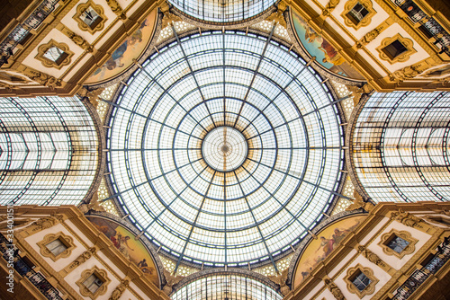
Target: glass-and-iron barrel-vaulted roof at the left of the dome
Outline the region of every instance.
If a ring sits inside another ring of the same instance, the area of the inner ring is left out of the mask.
[[[74,98],[0,98],[0,204],[78,204],[94,181],[98,138]]]

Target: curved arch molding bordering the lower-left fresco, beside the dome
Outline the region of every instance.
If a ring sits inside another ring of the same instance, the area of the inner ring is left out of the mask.
[[[137,241],[139,241],[140,243],[142,243],[144,245],[144,247],[148,251],[148,254],[150,255],[151,259],[155,263],[155,267],[157,269],[157,278],[159,279],[159,288],[163,287],[166,284],[166,278],[164,277],[164,272],[163,272],[163,269],[164,269],[163,263],[159,259],[159,256],[157,255],[157,251],[155,250],[154,246],[150,243],[150,241],[148,241],[148,238],[144,234],[140,234],[140,231],[138,228],[134,227],[126,220],[121,219],[118,216],[114,216],[108,212],[98,212],[98,211],[90,210],[89,212],[87,212],[85,214],[85,216],[96,217],[96,218],[110,221],[117,225],[121,225],[122,227],[124,227],[125,229],[130,231],[131,234],[135,234],[135,238],[139,237],[139,239]]]

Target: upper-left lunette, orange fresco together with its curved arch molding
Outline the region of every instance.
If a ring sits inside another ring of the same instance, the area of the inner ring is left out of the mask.
[[[138,67],[134,61],[140,62],[146,58],[155,46],[160,31],[160,23],[156,8],[140,23],[139,28],[112,52],[111,57],[103,66],[100,66],[87,78],[85,85],[109,86],[128,77]]]

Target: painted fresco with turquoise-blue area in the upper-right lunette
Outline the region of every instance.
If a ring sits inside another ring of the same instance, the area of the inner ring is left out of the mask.
[[[338,51],[325,40],[320,33],[314,31],[302,17],[293,12],[293,27],[297,33],[302,46],[311,57],[316,57],[316,61],[329,71],[348,78],[365,80],[353,66],[347,63],[346,59],[338,54]]]

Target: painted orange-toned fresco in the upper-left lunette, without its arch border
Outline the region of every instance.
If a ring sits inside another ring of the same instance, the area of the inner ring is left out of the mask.
[[[147,49],[154,31],[156,19],[157,13],[154,10],[148,14],[147,19],[140,24],[139,28],[118,49],[112,52],[111,57],[104,65],[96,69],[94,74],[87,78],[85,84],[101,83],[126,70],[133,63],[133,58],[138,58]]]

